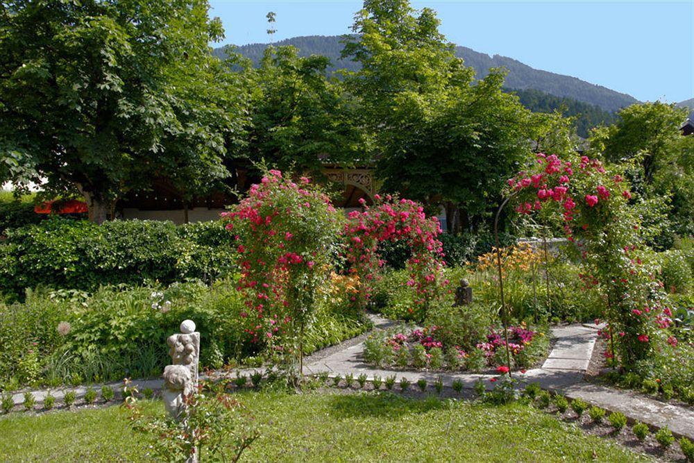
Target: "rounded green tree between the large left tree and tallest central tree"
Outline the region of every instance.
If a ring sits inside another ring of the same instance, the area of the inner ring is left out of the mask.
[[[357,101],[325,77],[330,60],[299,57],[294,47],[268,47],[259,69],[249,69],[251,127],[244,150],[254,162],[278,169],[318,171],[323,162],[349,165],[362,151]]]

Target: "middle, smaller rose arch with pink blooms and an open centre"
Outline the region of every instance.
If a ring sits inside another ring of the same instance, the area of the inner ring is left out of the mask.
[[[357,273],[361,290],[354,302],[364,308],[373,292],[373,282],[384,262],[378,255],[382,242],[404,241],[412,251],[407,260],[414,303],[408,308],[410,318],[423,320],[427,309],[443,294],[443,251],[437,235],[441,226],[436,217],[427,217],[423,207],[408,199],[376,195],[369,207],[362,201],[362,210],[348,215],[344,226],[346,258],[350,271]]]

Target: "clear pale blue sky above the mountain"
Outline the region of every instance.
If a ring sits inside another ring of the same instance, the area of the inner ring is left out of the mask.
[[[359,0],[210,0],[223,44],[348,33]],[[448,40],[568,74],[643,101],[694,97],[694,0],[412,1],[439,13]]]

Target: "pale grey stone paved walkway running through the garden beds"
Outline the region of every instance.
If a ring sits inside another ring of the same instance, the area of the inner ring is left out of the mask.
[[[371,316],[374,326],[377,329],[391,328],[397,322]],[[599,328],[599,327],[598,327]],[[555,345],[550,352],[547,360],[542,367],[530,369],[525,374],[514,373],[514,377],[521,380],[521,384],[528,382],[538,382],[543,389],[565,394],[568,398],[581,398],[582,400],[597,405],[612,412],[623,412],[630,420],[643,421],[655,428],[668,426],[672,433],[679,436],[686,436],[694,440],[694,409],[692,407],[679,407],[669,403],[657,401],[654,398],[635,394],[633,392],[619,389],[611,389],[600,385],[593,385],[584,381],[583,377],[588,369],[588,365],[593,355],[593,347],[598,337],[598,331],[591,325],[570,325],[552,328],[552,339]],[[305,374],[317,374],[328,372],[330,376],[344,376],[352,373],[355,378],[360,374],[366,374],[369,380],[374,376],[386,378],[395,374],[400,378],[407,378],[413,384],[420,379],[428,382],[441,379],[443,385],[451,387],[452,382],[459,380],[463,387],[472,389],[475,382],[482,378],[487,389],[493,387],[489,379],[497,375],[475,374],[475,373],[451,373],[451,372],[429,372],[429,371],[394,371],[377,369],[366,364],[362,358],[364,343],[345,342],[346,348],[336,348],[333,346],[330,351],[319,352],[306,357],[304,363]],[[325,353],[328,352],[328,355]],[[244,369],[241,373],[252,373],[254,369]],[[133,380],[140,392],[146,388],[158,390],[162,388],[163,382],[160,379]],[[115,390],[116,396],[121,394],[122,382],[112,382],[109,387]],[[93,385],[97,392],[100,392],[101,385]],[[83,398],[87,387],[74,387],[62,389],[46,389],[33,391],[37,403],[43,403],[44,398],[50,392],[58,401],[62,401],[65,391],[72,390],[76,393],[76,398]],[[24,401],[24,394],[17,393],[12,396],[16,405]]]

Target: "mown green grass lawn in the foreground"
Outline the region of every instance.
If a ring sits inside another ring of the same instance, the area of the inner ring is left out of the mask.
[[[382,394],[246,392],[262,425],[246,461],[648,461],[522,405],[411,400]],[[160,401],[145,402],[162,413]],[[3,461],[143,461],[121,407],[0,419]],[[595,457],[593,457],[595,452]]]

